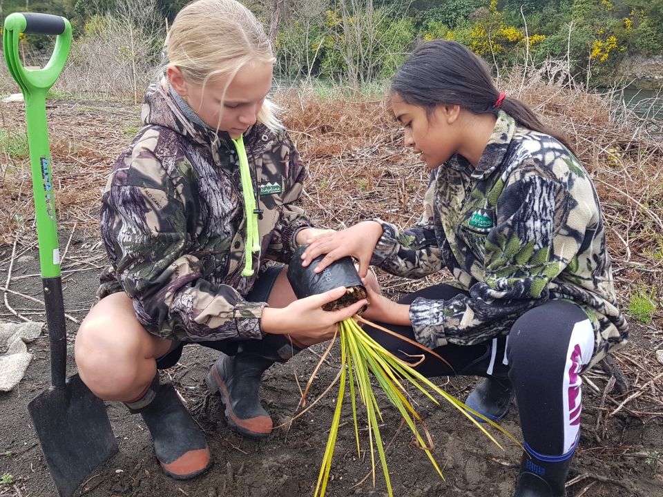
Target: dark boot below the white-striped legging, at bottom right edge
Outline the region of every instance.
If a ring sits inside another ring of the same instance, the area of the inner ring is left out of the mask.
[[[514,497],[566,497],[566,477],[572,459],[573,452],[555,461],[524,453]]]

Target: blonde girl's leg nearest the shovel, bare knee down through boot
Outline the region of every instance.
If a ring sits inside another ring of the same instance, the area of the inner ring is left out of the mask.
[[[127,407],[140,412],[164,472],[188,480],[209,468],[211,455],[173,385],[151,388],[156,359],[168,352],[171,344],[142,327],[130,298],[122,292],[113,293],[95,305],[81,323],[75,344],[76,364],[81,379],[97,397],[133,402]]]

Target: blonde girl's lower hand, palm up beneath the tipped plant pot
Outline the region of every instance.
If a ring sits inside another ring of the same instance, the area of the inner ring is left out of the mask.
[[[265,307],[262,309],[262,331],[275,335],[293,335],[304,345],[329,340],[336,333],[336,323],[356,314],[368,303],[360,300],[345,309],[323,311],[323,305],[334,302],[344,294],[345,286],[339,286],[319,295],[295,300],[282,309]]]

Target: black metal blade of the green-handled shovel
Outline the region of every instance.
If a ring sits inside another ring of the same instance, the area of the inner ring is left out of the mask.
[[[104,402],[78,375],[39,394],[28,411],[61,497],[73,496],[90,471],[117,453]]]

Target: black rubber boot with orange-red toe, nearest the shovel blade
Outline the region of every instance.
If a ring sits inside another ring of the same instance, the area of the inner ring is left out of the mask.
[[[154,451],[164,473],[176,480],[189,480],[212,463],[207,442],[171,384],[159,384],[155,376],[143,395],[125,402],[140,413],[154,440]]]

